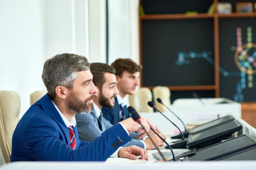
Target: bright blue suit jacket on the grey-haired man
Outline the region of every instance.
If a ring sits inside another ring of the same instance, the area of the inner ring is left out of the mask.
[[[79,140],[69,147],[70,132],[48,94],[37,101],[19,121],[12,139],[14,161],[105,161],[131,138],[119,123],[93,142]]]

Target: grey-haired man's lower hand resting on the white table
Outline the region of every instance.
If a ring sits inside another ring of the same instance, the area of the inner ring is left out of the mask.
[[[122,158],[136,160],[138,156],[141,156],[139,159],[149,160],[148,152],[145,149],[134,145],[130,147],[122,147],[118,152],[118,157]]]

